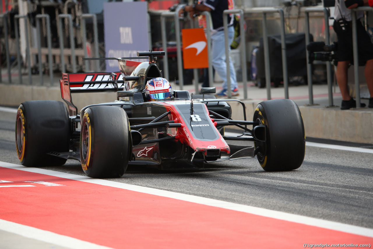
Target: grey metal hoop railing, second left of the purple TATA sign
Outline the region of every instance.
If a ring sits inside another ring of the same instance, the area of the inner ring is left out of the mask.
[[[61,49],[61,71],[66,73],[65,69],[65,58],[64,58],[64,44],[63,44],[63,29],[62,29],[62,18],[68,18],[69,20],[69,33],[70,33],[70,47],[71,47],[71,62],[72,62],[72,71],[76,73],[76,58],[75,58],[75,41],[74,41],[74,31],[72,27],[72,17],[70,14],[60,14],[58,16],[59,21],[59,36],[60,36],[60,49]]]

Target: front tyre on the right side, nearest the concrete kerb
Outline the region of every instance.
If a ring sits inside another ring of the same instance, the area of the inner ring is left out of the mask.
[[[266,126],[266,141],[254,142],[257,159],[266,171],[294,170],[305,153],[305,134],[300,110],[290,99],[258,104],[253,121]]]

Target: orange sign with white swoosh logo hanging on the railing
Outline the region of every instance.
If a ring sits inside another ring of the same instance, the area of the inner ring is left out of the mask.
[[[183,43],[184,68],[207,68],[207,40],[203,28],[188,28],[181,30]]]

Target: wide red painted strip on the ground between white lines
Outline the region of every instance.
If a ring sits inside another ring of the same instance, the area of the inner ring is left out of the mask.
[[[112,248],[301,248],[372,238],[40,173],[0,167],[0,219]]]

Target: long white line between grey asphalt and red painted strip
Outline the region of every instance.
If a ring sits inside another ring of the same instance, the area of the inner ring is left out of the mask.
[[[108,181],[108,180],[103,180],[103,179],[88,178],[86,176],[73,175],[70,173],[57,172],[53,170],[24,167],[22,165],[15,165],[15,164],[5,163],[5,162],[0,162],[0,167],[24,170],[27,172],[41,173],[45,175],[57,176],[61,178],[72,179],[72,180],[82,181],[82,182],[90,182],[90,183],[109,186],[109,187],[122,188],[125,190],[137,191],[137,192],[146,193],[146,194],[153,194],[156,196],[169,197],[169,198],[173,198],[177,200],[184,200],[186,202],[193,202],[193,203],[198,203],[202,205],[220,207],[220,208],[235,210],[239,212],[251,213],[254,215],[260,215],[260,216],[280,219],[284,221],[296,222],[300,224],[311,225],[314,227],[327,228],[327,229],[341,231],[345,233],[373,237],[373,229],[371,228],[358,227],[355,225],[348,225],[348,224],[343,224],[343,223],[334,222],[334,221],[326,221],[326,220],[311,218],[311,217],[302,216],[302,215],[295,215],[291,213],[264,209],[260,207],[253,207],[253,206],[246,206],[242,204],[224,202],[221,200],[214,200],[214,199],[209,199],[205,197],[192,196],[189,194],[174,193],[174,192],[170,192],[166,190],[159,190],[155,188],[142,187],[142,186],[137,186],[137,185],[132,185],[132,184],[125,184],[122,182],[113,182],[113,181]],[[6,230],[1,225],[0,225],[0,229]]]

